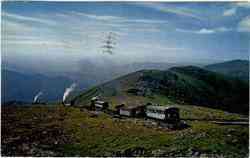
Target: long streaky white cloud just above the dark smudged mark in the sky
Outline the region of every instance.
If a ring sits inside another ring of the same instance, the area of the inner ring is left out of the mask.
[[[113,32],[119,31],[117,34],[121,36],[129,35],[128,32],[130,31],[160,32],[161,30],[157,24],[168,23],[166,20],[141,18],[130,19],[121,16],[95,15],[76,11],[57,13],[56,16],[58,18],[63,18],[63,21],[70,19],[71,23],[77,23],[78,25],[70,26],[74,29],[75,33],[83,31],[89,32],[88,34],[91,34],[90,32],[93,32],[93,30],[100,30],[100,32],[107,32],[110,30],[113,30]],[[69,23],[66,23],[65,25],[69,25]],[[88,30],[83,29],[83,26],[88,27]]]

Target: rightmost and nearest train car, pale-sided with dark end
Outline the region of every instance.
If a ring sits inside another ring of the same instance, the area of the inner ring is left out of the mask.
[[[179,109],[168,106],[147,106],[146,116],[168,123],[176,123],[180,120]]]

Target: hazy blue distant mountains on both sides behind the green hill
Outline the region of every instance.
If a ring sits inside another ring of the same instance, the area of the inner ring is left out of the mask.
[[[247,81],[249,77],[247,64],[249,66],[248,61],[235,60],[208,65],[204,68]],[[181,65],[185,64],[138,62],[119,65],[109,61],[102,61],[97,64],[94,61],[85,60],[79,64],[77,71],[58,74],[42,75],[34,72],[26,73],[26,71],[22,71],[20,73],[17,70],[2,69],[2,101],[32,101],[39,91],[43,91],[44,94],[41,97],[44,101],[61,100],[65,88],[73,82],[78,85],[78,89],[74,93],[74,95],[77,95],[83,90],[132,72],[150,69],[164,71]]]

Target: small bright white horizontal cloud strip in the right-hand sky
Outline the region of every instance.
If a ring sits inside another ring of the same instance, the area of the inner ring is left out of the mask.
[[[214,33],[219,33],[219,32],[228,32],[231,31],[232,29],[226,28],[226,27],[218,27],[218,28],[201,28],[199,30],[185,30],[185,29],[179,29],[177,28],[177,32],[184,32],[184,33],[194,33],[194,34],[214,34]]]

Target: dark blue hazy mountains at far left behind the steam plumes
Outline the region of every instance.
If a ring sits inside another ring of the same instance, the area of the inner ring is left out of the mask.
[[[72,80],[65,77],[47,77],[40,74],[23,74],[2,70],[2,103],[7,101],[33,101],[34,96],[43,92],[41,100],[61,100],[66,87]]]

